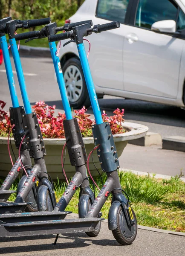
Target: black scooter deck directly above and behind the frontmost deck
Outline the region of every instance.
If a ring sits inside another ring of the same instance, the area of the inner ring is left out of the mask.
[[[68,211],[63,212],[22,212],[22,213],[4,213],[0,214],[0,221],[6,223],[30,222],[30,221],[51,221],[64,219]]]

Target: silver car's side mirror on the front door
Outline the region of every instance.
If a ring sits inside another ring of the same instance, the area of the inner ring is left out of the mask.
[[[154,32],[175,33],[176,22],[175,20],[159,20],[152,24],[151,30]]]

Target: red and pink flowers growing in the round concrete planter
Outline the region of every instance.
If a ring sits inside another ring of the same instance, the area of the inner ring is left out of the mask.
[[[3,111],[5,102],[0,101],[0,136],[6,136],[11,127],[10,119],[8,113]],[[45,138],[65,138],[64,125],[63,121],[66,119],[65,113],[58,112],[58,116],[54,117],[55,105],[48,106],[45,102],[40,101],[36,102],[33,106],[33,109],[38,117],[38,122],[40,125],[40,130]],[[87,109],[83,107],[80,110],[74,110],[74,117],[78,120],[78,125],[81,130],[83,137],[91,137],[92,134],[92,125],[95,124],[95,121],[92,121],[89,117],[90,114],[87,114]],[[102,119],[103,122],[109,122],[110,128],[113,134],[120,134],[125,132],[122,127],[124,122],[124,109],[120,110],[117,108],[114,112],[115,115],[107,116],[106,112],[103,111]]]

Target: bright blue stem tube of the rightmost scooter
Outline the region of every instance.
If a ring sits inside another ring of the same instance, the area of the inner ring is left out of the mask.
[[[90,96],[90,102],[91,102],[91,105],[93,108],[93,113],[95,115],[95,121],[96,121],[96,124],[99,125],[99,124],[103,123],[103,119],[101,116],[98,98],[97,98],[97,95],[95,92],[93,78],[92,78],[92,75],[90,72],[89,62],[87,60],[84,44],[78,44],[77,49],[78,49],[78,53],[80,56],[82,70],[84,72],[87,90],[88,90],[89,96]]]

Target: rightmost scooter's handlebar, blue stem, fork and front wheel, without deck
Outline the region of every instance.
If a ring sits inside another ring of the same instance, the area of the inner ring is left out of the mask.
[[[53,23],[47,26],[52,26]],[[47,27],[46,26],[46,27]],[[107,174],[107,180],[103,188],[99,192],[92,207],[89,209],[85,218],[95,217],[103,207],[108,196],[112,193],[112,204],[108,216],[109,229],[112,230],[115,239],[123,245],[132,244],[137,234],[137,220],[133,209],[129,205],[129,198],[125,198],[122,192],[121,184],[118,176],[119,160],[116,151],[116,145],[108,122],[103,122],[101,111],[99,108],[93,79],[90,73],[85,47],[83,43],[84,36],[94,33],[100,33],[110,29],[120,27],[119,22],[111,22],[103,25],[95,25],[91,28],[91,24],[83,24],[73,27],[72,32],[53,35],[50,34],[49,42],[71,39],[77,45],[81,66],[83,69],[87,89],[90,96],[93,113],[95,115],[96,124],[92,126],[93,137],[101,169]],[[124,192],[126,194],[126,192]],[[127,194],[126,194],[127,195]],[[56,238],[57,240],[57,238]],[[56,242],[56,241],[55,241]]]

